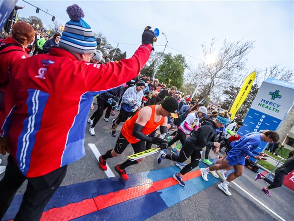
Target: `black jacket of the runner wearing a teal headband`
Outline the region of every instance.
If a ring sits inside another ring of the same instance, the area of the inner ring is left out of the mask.
[[[193,132],[186,142],[189,143],[193,149],[201,151],[203,147],[213,147],[213,142],[216,140],[217,125],[212,120],[204,120],[195,132]]]

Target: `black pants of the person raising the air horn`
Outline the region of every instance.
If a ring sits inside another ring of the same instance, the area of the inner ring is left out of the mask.
[[[45,206],[60,186],[66,171],[67,166],[62,166],[45,175],[27,178],[9,155],[5,175],[0,181],[0,220],[10,206],[16,191],[26,179],[28,183],[23,201],[14,220],[40,220]]]

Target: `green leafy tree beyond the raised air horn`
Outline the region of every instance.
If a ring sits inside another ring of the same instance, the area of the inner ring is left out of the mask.
[[[186,67],[187,63],[183,55],[165,54],[155,77],[159,82],[167,84],[168,87],[181,88],[184,83],[183,75]]]

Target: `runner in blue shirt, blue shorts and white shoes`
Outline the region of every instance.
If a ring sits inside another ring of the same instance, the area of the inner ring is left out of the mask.
[[[232,149],[227,152],[227,156],[225,155],[221,158],[217,164],[207,168],[200,168],[201,176],[205,181],[208,181],[207,174],[209,172],[219,169],[230,170],[234,168],[234,172],[230,173],[226,180],[218,185],[219,189],[223,193],[232,195],[228,190],[228,184],[239,176],[242,176],[245,165],[245,157],[248,155],[252,158],[263,161],[266,154],[256,152],[255,149],[259,146],[261,141],[277,142],[278,140],[279,135],[274,131],[267,131],[264,134],[256,132],[249,133],[247,136],[243,136],[239,140],[232,142]]]

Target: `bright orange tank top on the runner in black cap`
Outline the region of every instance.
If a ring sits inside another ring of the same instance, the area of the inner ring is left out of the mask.
[[[142,129],[142,133],[145,135],[149,135],[153,131],[155,131],[161,124],[163,124],[164,119],[165,119],[165,117],[162,116],[159,122],[155,122],[154,115],[155,115],[156,105],[151,105],[148,107],[150,107],[152,109],[152,113],[151,113],[150,119],[147,121],[145,127]],[[138,111],[132,118],[126,120],[123,124],[121,133],[122,133],[123,137],[125,137],[129,143],[137,143],[140,141],[140,139],[133,136],[135,122],[138,118],[140,111]]]

